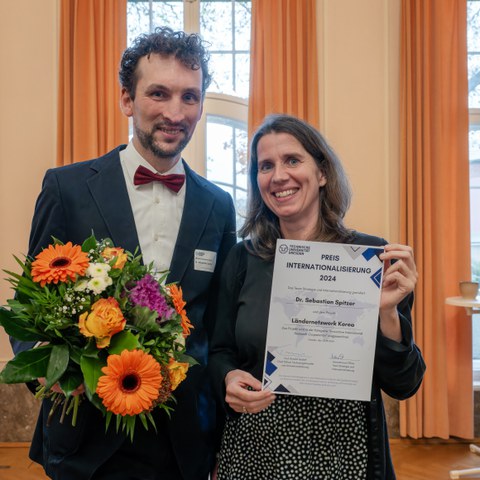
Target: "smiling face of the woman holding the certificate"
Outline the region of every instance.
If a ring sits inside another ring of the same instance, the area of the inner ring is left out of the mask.
[[[312,233],[319,215],[320,187],[327,183],[313,157],[289,133],[269,133],[257,144],[260,194],[277,215],[282,232]]]

